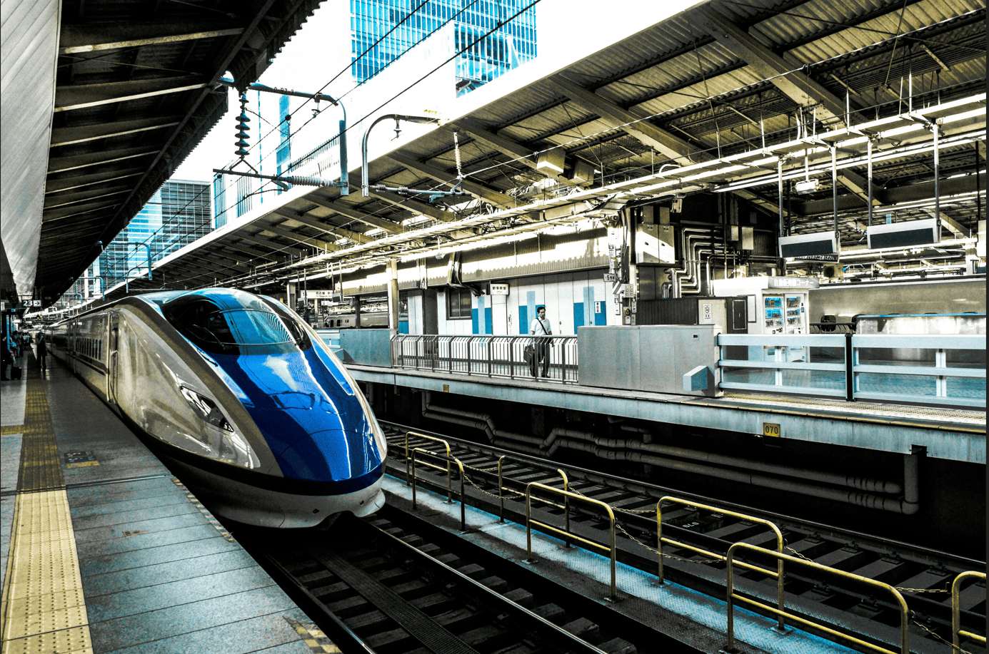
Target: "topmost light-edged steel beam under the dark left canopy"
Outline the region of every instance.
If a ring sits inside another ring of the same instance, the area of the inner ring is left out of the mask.
[[[78,54],[158,43],[216,39],[243,34],[243,26],[231,21],[188,23],[127,23],[122,25],[65,26],[58,39],[58,54]]]

